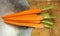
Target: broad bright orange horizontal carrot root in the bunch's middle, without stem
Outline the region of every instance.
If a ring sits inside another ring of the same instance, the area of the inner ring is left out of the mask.
[[[5,20],[43,20],[43,16],[25,16],[25,17],[12,17],[12,18],[3,18]]]

